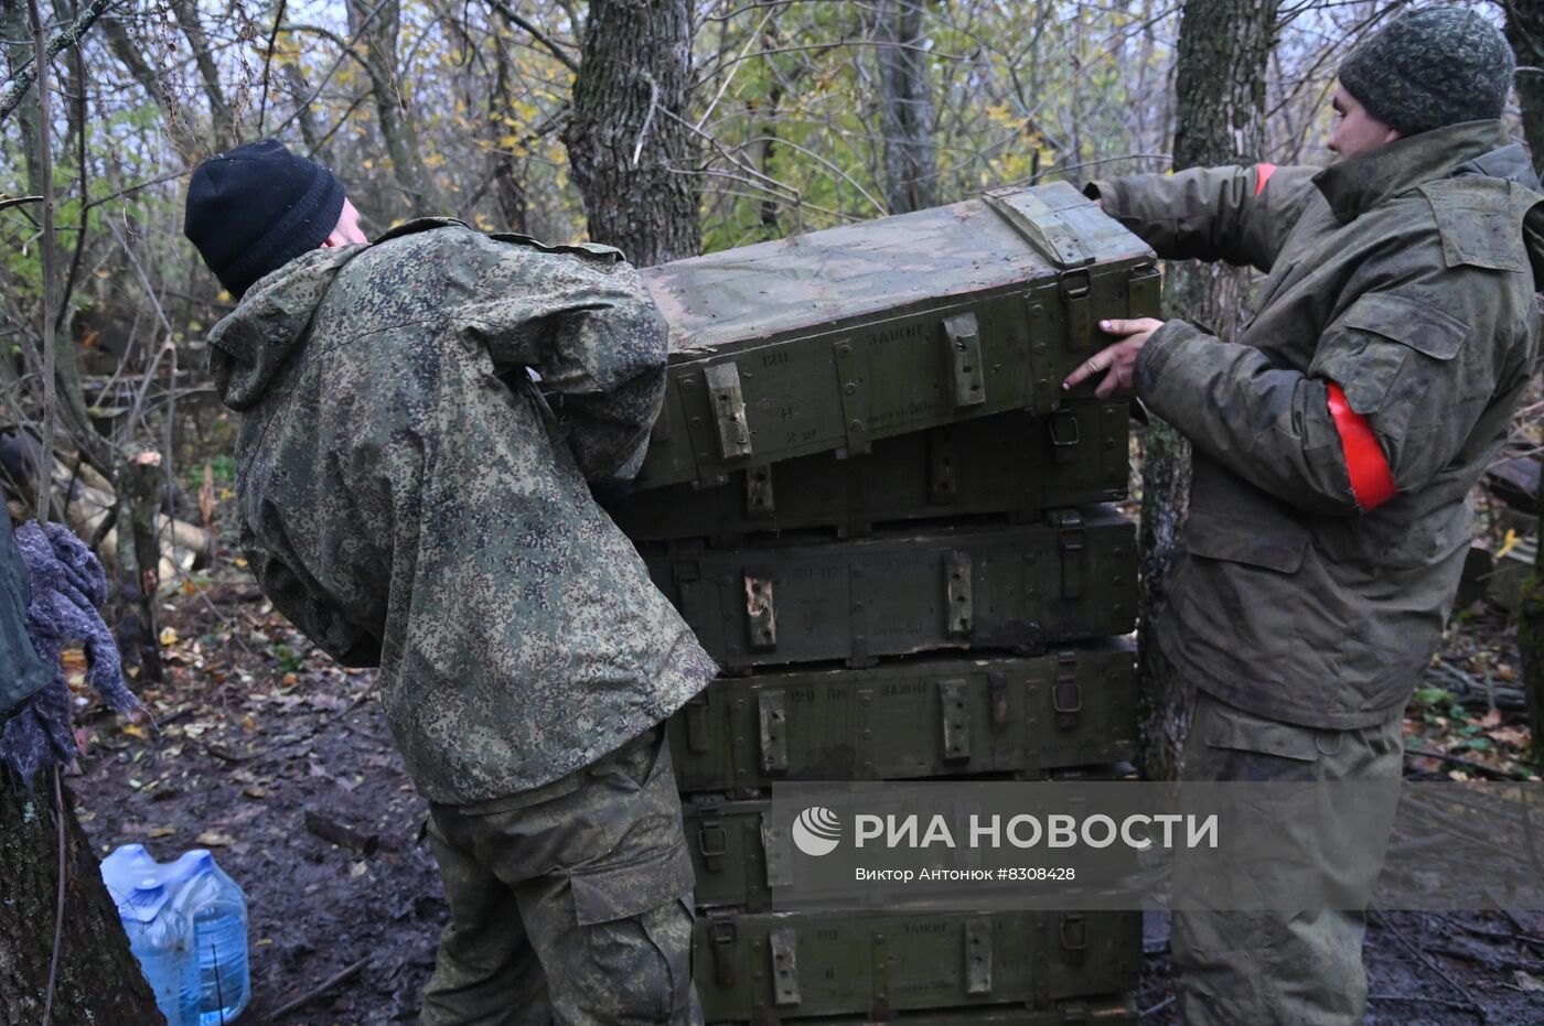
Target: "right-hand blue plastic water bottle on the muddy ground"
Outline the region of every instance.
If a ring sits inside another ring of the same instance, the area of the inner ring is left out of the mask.
[[[252,997],[247,961],[247,895],[215,864],[215,856],[195,849],[171,864],[178,910],[193,923],[198,952],[199,1026],[236,1021]]]

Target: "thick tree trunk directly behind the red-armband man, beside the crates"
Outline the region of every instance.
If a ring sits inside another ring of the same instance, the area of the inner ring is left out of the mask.
[[[1186,0],[1177,54],[1173,167],[1243,164],[1265,151],[1265,86],[1278,0]],[[1220,336],[1238,327],[1243,272],[1175,264],[1164,315],[1200,321]],[[1190,446],[1153,418],[1143,451],[1141,762],[1147,779],[1172,781],[1189,733],[1194,682],[1158,656],[1152,626],[1164,606],[1173,543],[1190,492]]]

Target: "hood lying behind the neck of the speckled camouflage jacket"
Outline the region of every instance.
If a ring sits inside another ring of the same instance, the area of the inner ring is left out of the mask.
[[[221,401],[245,410],[301,347],[332,279],[366,245],[310,250],[258,281],[208,333],[208,366]]]

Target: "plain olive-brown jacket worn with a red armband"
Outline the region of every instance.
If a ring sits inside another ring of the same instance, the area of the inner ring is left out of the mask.
[[[1195,449],[1156,636],[1226,702],[1363,727],[1403,707],[1441,639],[1468,492],[1538,356],[1544,197],[1501,122],[1268,167],[1093,184],[1160,256],[1268,273],[1237,341],[1169,321],[1136,363],[1136,395]],[[1329,383],[1393,472],[1368,512]]]

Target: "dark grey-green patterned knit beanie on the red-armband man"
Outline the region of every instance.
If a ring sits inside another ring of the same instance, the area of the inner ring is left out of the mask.
[[[1340,85],[1400,136],[1501,117],[1516,59],[1501,29],[1464,8],[1407,11],[1357,45]]]

